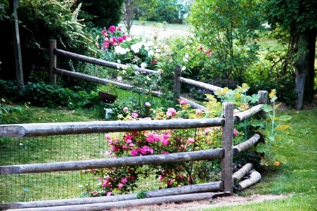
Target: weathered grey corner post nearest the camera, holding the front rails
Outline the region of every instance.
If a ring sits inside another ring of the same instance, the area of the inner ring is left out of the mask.
[[[224,127],[222,130],[222,148],[224,159],[221,160],[221,180],[224,181],[224,192],[232,193],[232,144],[234,139],[234,103],[223,103]]]

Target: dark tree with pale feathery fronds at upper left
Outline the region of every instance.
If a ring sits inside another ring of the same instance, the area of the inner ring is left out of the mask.
[[[14,79],[15,69],[11,18],[8,1],[0,0],[0,69],[5,72],[0,79]],[[47,57],[40,53],[40,48],[47,48],[49,40],[54,38],[60,49],[72,52],[88,52],[88,35],[84,31],[85,25],[78,19],[81,4],[73,1],[56,0],[25,0],[19,1],[18,18],[21,49],[23,57],[23,72],[28,81],[33,66],[45,66]]]

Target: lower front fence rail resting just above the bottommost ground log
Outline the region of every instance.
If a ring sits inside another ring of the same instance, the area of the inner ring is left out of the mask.
[[[156,198],[168,195],[180,195],[190,193],[204,193],[204,192],[217,192],[223,189],[223,182],[211,182],[203,183],[192,186],[182,186],[176,188],[167,188],[163,190],[152,190],[146,192],[148,198]],[[110,195],[102,197],[92,198],[76,198],[76,199],[63,199],[63,200],[43,200],[33,202],[21,202],[21,203],[3,203],[0,204],[0,210],[7,209],[22,209],[32,207],[54,207],[54,206],[65,206],[65,205],[85,205],[93,203],[110,203],[123,200],[135,200],[137,199],[138,193],[130,193],[123,195]]]

